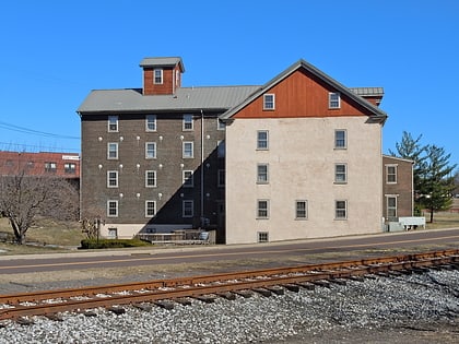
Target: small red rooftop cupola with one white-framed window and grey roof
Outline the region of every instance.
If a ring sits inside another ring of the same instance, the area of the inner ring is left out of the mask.
[[[143,95],[173,95],[181,86],[185,67],[179,57],[144,58],[140,67],[143,69]]]

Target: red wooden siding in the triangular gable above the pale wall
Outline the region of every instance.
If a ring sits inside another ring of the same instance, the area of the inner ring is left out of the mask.
[[[263,110],[261,95],[248,104],[235,118],[294,118],[369,116],[369,111],[341,94],[341,108],[329,109],[328,96],[337,92],[305,70],[295,71],[286,79],[267,90],[264,94],[275,95],[275,109]]]

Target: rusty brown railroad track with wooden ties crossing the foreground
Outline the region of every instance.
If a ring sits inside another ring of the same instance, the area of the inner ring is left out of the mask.
[[[120,313],[123,312],[123,305],[145,308],[145,305],[155,304],[169,308],[174,303],[190,303],[190,298],[211,303],[216,297],[232,299],[235,295],[248,297],[250,293],[269,296],[271,293],[282,294],[284,289],[298,292],[301,287],[314,288],[315,285],[345,283],[349,278],[374,274],[408,274],[437,266],[459,269],[459,250],[0,295],[0,320],[26,321],[32,316],[59,319],[58,315],[61,312],[85,311],[98,307]]]

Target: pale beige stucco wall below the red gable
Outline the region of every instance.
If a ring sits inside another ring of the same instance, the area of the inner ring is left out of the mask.
[[[226,128],[226,244],[331,237],[381,230],[381,126],[366,116],[236,119]],[[334,150],[334,130],[348,149]],[[257,131],[269,150],[257,151]],[[269,183],[257,183],[257,164],[269,164]],[[334,165],[348,165],[348,182],[334,183]],[[269,220],[257,220],[257,200],[270,200]],[[308,201],[308,218],[295,220],[295,201]],[[334,220],[334,201],[348,201],[348,218]]]

